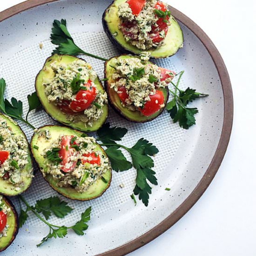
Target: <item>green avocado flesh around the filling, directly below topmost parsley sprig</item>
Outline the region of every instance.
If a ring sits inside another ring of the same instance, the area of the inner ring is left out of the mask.
[[[69,64],[77,59],[79,59],[79,58],[70,56],[70,55],[58,55],[58,54],[54,54],[53,56],[47,58],[43,68],[40,70],[40,72],[36,76],[35,90],[36,90],[36,93],[37,93],[41,103],[42,103],[43,108],[45,109],[47,114],[50,115],[54,120],[56,120],[64,125],[67,125],[71,128],[74,128],[74,129],[78,129],[78,130],[81,130],[84,132],[93,132],[93,131],[96,131],[99,128],[101,128],[103,123],[106,121],[106,119],[108,117],[108,104],[104,105],[102,116],[98,120],[94,121],[92,126],[85,127],[85,125],[82,121],[78,121],[78,122],[69,121],[67,119],[67,115],[65,113],[63,113],[60,110],[60,108],[58,108],[53,103],[50,103],[48,101],[47,95],[45,94],[45,91],[44,91],[43,82],[47,81],[47,80],[50,81],[54,77],[54,72],[50,68],[50,65],[54,61],[58,61],[58,62],[64,63],[64,64]],[[94,84],[99,91],[101,91],[103,93],[105,92],[99,77],[97,77],[94,80]],[[80,115],[80,114],[77,114],[77,115]]]

